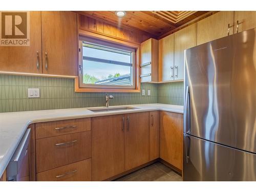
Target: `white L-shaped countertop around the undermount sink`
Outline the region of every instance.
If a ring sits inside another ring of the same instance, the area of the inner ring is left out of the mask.
[[[120,106],[131,106],[137,109],[97,113],[88,110],[102,108],[96,107],[0,113],[0,176],[3,175],[20,139],[22,139],[28,125],[31,123],[156,110],[183,113],[182,105],[150,103]],[[120,106],[110,106],[109,108]]]

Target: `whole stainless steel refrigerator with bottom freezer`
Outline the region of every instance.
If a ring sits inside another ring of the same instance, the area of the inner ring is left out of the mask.
[[[184,181],[256,181],[256,30],[185,50]]]

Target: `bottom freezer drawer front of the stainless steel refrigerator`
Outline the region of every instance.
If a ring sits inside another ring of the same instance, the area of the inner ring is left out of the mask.
[[[256,181],[256,154],[184,134],[184,181]]]

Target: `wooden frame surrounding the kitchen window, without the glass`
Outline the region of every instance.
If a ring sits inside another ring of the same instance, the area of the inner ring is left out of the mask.
[[[105,46],[110,48],[117,48],[124,51],[132,52],[132,86],[118,86],[118,85],[100,85],[100,84],[86,84],[83,83],[83,71],[82,71],[82,41],[89,42],[99,46]],[[109,39],[96,39],[93,37],[87,37],[79,35],[78,38],[78,77],[75,79],[75,91],[76,92],[140,92],[139,82],[139,66],[138,66],[138,52],[139,46],[132,45],[126,42],[110,41]]]

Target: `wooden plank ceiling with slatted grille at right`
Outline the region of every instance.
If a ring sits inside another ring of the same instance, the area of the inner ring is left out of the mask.
[[[129,27],[158,38],[207,11],[126,11],[124,17],[117,17],[115,11],[79,11],[92,18],[106,20],[118,27]]]

